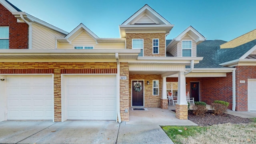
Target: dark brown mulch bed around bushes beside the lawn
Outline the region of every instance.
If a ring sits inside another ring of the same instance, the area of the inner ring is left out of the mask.
[[[175,112],[175,110],[172,110]],[[196,116],[193,114],[193,110],[188,110],[188,120],[198,124],[198,126],[212,126],[213,124],[241,124],[252,122],[250,118],[242,118],[231,114],[214,115],[212,110],[208,110],[204,116]]]

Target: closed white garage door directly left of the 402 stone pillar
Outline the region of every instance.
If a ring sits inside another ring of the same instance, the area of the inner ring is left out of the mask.
[[[68,120],[116,120],[116,76],[66,76]]]

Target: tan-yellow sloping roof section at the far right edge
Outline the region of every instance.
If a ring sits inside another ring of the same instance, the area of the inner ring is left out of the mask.
[[[235,48],[256,39],[256,29],[220,45],[220,48]]]

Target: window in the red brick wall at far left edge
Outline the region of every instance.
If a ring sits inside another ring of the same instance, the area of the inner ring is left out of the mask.
[[[9,27],[0,26],[0,49],[9,49]]]

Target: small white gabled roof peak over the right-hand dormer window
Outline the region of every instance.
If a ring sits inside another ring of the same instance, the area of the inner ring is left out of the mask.
[[[206,40],[206,38],[202,34],[200,34],[196,29],[194,29],[192,26],[189,26],[188,28],[186,28],[186,30],[184,30],[166,46],[166,51],[168,52],[186,35],[190,36],[190,38],[192,38],[196,42],[196,44],[200,44],[200,42]]]

